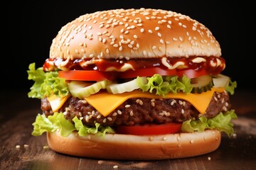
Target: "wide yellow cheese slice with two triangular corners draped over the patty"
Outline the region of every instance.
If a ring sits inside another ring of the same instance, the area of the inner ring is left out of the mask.
[[[210,99],[213,97],[214,91],[224,91],[223,88],[213,88],[211,91],[206,91],[201,94],[167,94],[165,98],[179,98],[191,103],[200,113],[205,113],[206,108],[210,103]],[[139,90],[127,92],[124,94],[109,94],[107,92],[102,92],[98,94],[93,94],[85,98],[85,100],[90,103],[97,111],[102,115],[107,116],[115,108],[124,103],[128,98],[163,98],[163,96],[150,94],[148,92],[142,92]]]

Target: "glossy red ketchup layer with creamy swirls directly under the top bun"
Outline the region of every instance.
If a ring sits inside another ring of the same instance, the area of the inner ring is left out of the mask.
[[[197,56],[198,57],[198,56]],[[200,56],[201,57],[201,56]],[[201,57],[205,59],[203,62],[193,62],[196,57],[166,57],[166,62],[170,65],[174,65],[177,62],[183,62],[182,67],[177,67],[176,69],[193,69],[195,71],[200,71],[205,69],[208,74],[219,74],[225,69],[225,60],[223,57]],[[59,67],[60,63],[65,62],[66,64]],[[83,64],[89,62],[89,64]],[[55,69],[60,70],[97,70],[100,72],[106,72],[107,68],[114,67],[116,70],[121,69],[124,64],[131,64],[134,70],[161,67],[162,69],[168,69],[162,62],[160,58],[152,59],[132,59],[132,60],[115,60],[115,59],[75,59],[75,60],[62,60],[60,58],[48,58],[43,64],[43,70],[46,72],[53,71]],[[115,71],[112,71],[115,72]]]

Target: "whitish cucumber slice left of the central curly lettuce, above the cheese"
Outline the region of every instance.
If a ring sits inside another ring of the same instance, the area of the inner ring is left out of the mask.
[[[146,81],[146,77],[142,77],[142,79]],[[107,91],[112,94],[122,94],[124,92],[134,91],[135,89],[139,89],[137,79],[122,84],[110,84],[107,86]]]

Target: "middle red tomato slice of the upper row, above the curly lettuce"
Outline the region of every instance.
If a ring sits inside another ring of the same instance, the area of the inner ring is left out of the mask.
[[[128,70],[120,73],[120,78],[136,78],[136,77],[152,77],[154,74],[160,74],[161,76],[174,76],[176,75],[176,69],[161,69],[160,67],[153,67],[147,69]]]

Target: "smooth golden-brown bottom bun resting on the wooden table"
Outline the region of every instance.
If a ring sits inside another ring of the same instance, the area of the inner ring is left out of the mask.
[[[47,133],[48,145],[55,152],[77,157],[114,160],[159,160],[194,157],[207,154],[220,146],[218,130],[182,132],[168,135],[106,134],[104,137],[80,137],[73,132],[62,137]]]

